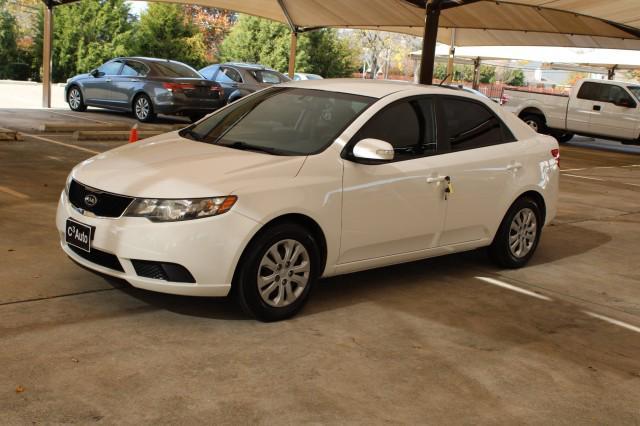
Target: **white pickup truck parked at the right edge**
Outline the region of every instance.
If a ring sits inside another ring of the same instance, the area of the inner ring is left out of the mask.
[[[580,80],[568,96],[505,89],[503,102],[534,130],[559,142],[580,134],[640,143],[638,84]]]

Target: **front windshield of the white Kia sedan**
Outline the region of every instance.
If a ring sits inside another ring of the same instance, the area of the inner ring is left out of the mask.
[[[325,149],[374,98],[272,88],[243,98],[181,132],[183,137],[278,155]]]

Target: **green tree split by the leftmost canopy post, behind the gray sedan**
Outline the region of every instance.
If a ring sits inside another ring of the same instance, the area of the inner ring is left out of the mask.
[[[34,65],[42,66],[43,13],[36,30]],[[124,0],[83,0],[57,6],[53,23],[53,81],[129,53],[132,18]]]

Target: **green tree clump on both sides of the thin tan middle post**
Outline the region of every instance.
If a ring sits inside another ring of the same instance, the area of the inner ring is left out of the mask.
[[[220,47],[221,61],[259,63],[286,72],[291,32],[285,25],[242,15]],[[333,29],[298,36],[296,71],[344,77],[354,70],[354,52]]]

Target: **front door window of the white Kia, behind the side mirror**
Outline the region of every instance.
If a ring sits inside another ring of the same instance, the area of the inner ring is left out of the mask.
[[[435,154],[437,151],[431,98],[399,101],[374,115],[356,135],[389,142],[394,148],[394,160],[410,160]]]

